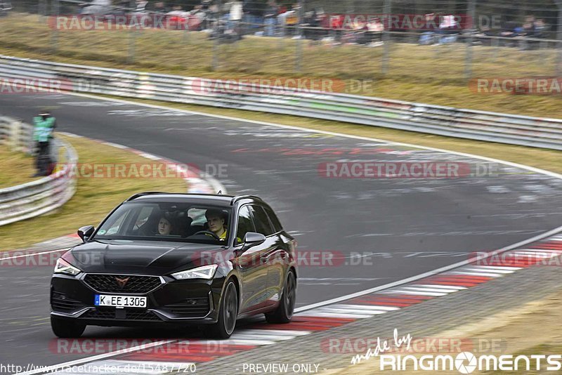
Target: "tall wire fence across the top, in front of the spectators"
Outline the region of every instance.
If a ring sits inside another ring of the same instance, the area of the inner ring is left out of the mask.
[[[232,77],[556,77],[562,1],[0,1],[0,45]]]

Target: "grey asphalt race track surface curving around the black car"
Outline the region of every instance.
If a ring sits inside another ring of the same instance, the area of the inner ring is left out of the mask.
[[[497,175],[483,178],[325,178],[318,172],[325,162],[483,161],[79,96],[0,96],[0,114],[28,122],[44,107],[57,117],[59,131],[120,143],[201,169],[226,164],[226,176],[217,178],[230,194],[263,197],[298,239],[300,251],[333,256],[332,264],[301,265],[297,306],[457,263],[473,251],[499,249],[562,222],[562,180],[523,169],[502,166]],[[84,209],[88,204],[84,202]],[[88,224],[97,223],[76,226]],[[44,237],[52,237],[47,228]],[[58,364],[80,357],[49,348],[54,338],[48,324],[51,271],[1,270],[0,362]],[[173,335],[101,327],[89,327],[85,333]]]

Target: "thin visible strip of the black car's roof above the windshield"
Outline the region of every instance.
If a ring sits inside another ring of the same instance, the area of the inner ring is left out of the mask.
[[[250,199],[263,202],[260,197],[251,195],[221,195],[202,193],[171,193],[171,192],[140,192],[129,197],[125,202],[190,202],[198,204],[216,204],[232,206],[240,199]]]

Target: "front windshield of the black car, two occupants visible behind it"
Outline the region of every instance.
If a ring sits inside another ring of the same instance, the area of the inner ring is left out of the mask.
[[[100,225],[93,239],[226,244],[230,208],[195,203],[129,202]]]

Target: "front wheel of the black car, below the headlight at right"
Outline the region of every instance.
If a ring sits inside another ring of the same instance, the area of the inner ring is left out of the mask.
[[[236,327],[238,317],[238,293],[232,280],[228,280],[218,309],[218,322],[204,326],[209,338],[229,338]]]

